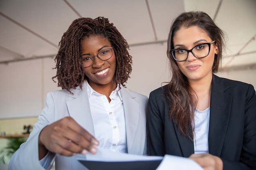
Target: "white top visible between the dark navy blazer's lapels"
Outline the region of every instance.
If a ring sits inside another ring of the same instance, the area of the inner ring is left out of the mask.
[[[200,111],[195,110],[195,131],[194,131],[194,150],[195,154],[208,153],[208,132],[210,121],[210,107]]]

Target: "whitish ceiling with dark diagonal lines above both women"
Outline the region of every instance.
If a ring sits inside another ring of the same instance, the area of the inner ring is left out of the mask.
[[[256,0],[0,0],[0,64],[56,55],[79,17],[109,18],[131,48],[166,42],[171,21],[191,10],[227,33],[223,68],[256,67]]]

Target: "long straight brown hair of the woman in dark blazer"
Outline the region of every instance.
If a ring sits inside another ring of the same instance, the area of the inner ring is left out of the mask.
[[[187,135],[192,139],[194,131],[194,112],[198,103],[198,98],[195,91],[193,91],[189,85],[187,77],[180,71],[177,62],[170,53],[170,50],[174,49],[173,37],[177,31],[182,27],[189,28],[191,26],[198,26],[200,29],[204,30],[211,40],[215,40],[216,44],[218,44],[219,53],[214,56],[212,66],[213,73],[218,72],[221,63],[224,33],[207,13],[201,11],[181,13],[171,25],[168,36],[167,56],[172,78],[168,84],[166,99],[170,106],[170,118],[175,121],[182,134]],[[190,130],[191,128],[192,130]]]

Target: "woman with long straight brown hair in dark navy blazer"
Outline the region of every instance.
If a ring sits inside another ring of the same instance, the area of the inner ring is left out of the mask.
[[[224,34],[207,13],[184,12],[173,21],[172,78],[148,99],[150,155],[189,157],[205,170],[256,169],[255,90],[213,74],[223,46]]]

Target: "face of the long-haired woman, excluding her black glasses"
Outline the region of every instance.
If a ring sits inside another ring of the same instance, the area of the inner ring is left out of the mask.
[[[212,41],[207,33],[198,26],[182,27],[173,37],[174,49],[190,50],[196,45]],[[213,43],[210,45],[210,52],[207,57],[196,58],[189,52],[188,58],[185,61],[177,62],[177,65],[189,82],[212,78],[212,66],[214,54],[218,54],[217,48],[217,44]]]

